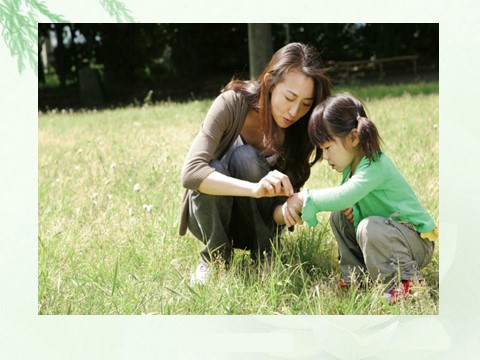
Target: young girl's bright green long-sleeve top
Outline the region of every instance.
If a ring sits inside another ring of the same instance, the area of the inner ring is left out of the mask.
[[[353,205],[354,227],[369,216],[392,217],[408,222],[420,233],[435,229],[435,223],[393,162],[385,154],[375,161],[363,157],[349,178],[345,169],[341,185],[335,188],[305,191],[302,219],[318,223],[320,211],[338,211]]]

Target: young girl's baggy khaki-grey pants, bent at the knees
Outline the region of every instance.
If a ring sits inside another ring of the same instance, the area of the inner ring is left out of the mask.
[[[422,280],[420,269],[432,259],[434,243],[422,239],[410,224],[381,216],[363,219],[355,233],[341,211],[330,225],[338,243],[340,271],[345,282],[368,271],[373,280],[395,286],[396,280]]]

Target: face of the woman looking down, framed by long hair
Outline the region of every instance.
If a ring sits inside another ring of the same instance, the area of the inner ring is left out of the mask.
[[[291,70],[273,87],[271,93],[273,119],[278,127],[286,129],[312,107],[315,83],[311,77]]]

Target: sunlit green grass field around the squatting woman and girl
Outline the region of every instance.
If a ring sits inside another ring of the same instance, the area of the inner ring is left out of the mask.
[[[349,90],[437,221],[438,83]],[[380,285],[338,290],[328,214],[287,234],[268,266],[236,251],[228,271],[190,287],[201,243],[178,236],[180,170],[210,103],[39,115],[39,314],[438,313],[438,246],[414,300],[388,304]],[[307,186],[339,181],[317,164]]]

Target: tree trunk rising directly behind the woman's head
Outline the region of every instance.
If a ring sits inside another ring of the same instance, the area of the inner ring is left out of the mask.
[[[262,73],[273,54],[271,24],[248,24],[250,79]]]

